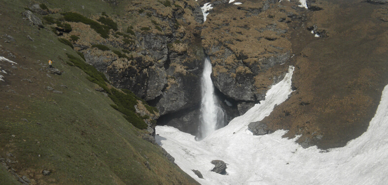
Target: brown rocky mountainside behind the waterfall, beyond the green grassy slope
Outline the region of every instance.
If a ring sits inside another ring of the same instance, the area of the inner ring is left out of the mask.
[[[201,6],[208,2],[213,8],[203,22]],[[361,134],[379,96],[357,88],[369,84],[379,89],[385,81],[374,80],[386,79],[384,75],[373,75],[386,74],[386,68],[381,68],[386,56],[382,52],[386,47],[382,35],[388,20],[386,1],[307,0],[305,6],[296,0],[239,2],[131,1],[124,15],[112,18],[118,30],[111,31],[109,38],[79,23],[70,23],[71,33],[80,37],[74,43],[75,49],[84,53],[87,62],[104,72],[114,86],[130,89],[160,110],[158,124],[197,132],[200,76],[203,59],[208,55],[216,93],[228,119],[264,100],[271,85],[283,78],[289,65],[294,65],[295,92],[260,124],[266,125],[268,132],[287,129],[290,132],[286,136],[302,134],[298,142],[306,147],[343,146]],[[336,12],[343,15],[336,16]],[[353,18],[368,21],[373,28],[350,22]],[[95,44],[114,49],[102,51]],[[368,49],[361,47],[365,44]],[[121,51],[114,51],[117,49]],[[367,58],[373,62],[365,62]],[[350,79],[352,72],[359,74],[354,79],[360,82]],[[364,75],[369,76],[361,79]],[[347,86],[350,88],[342,88]],[[348,101],[339,103],[342,98]],[[357,99],[354,105],[350,103],[352,98]],[[347,119],[336,119],[343,115],[335,107],[343,106]]]

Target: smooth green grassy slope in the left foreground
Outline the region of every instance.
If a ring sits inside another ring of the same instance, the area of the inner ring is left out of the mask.
[[[99,0],[50,2],[49,8],[64,10],[79,11],[84,5],[85,15],[114,11]],[[0,156],[17,161],[8,165],[37,184],[196,184],[162,155],[160,147],[141,139],[142,131],[111,108],[111,100],[95,91],[96,85],[81,70],[66,64],[65,53],[76,55],[69,46],[60,43],[49,28],[38,29],[22,19],[20,12],[27,4],[28,0],[0,2],[0,33],[16,40],[4,43],[1,39],[0,55],[18,63],[16,70],[0,63],[9,72],[0,82]],[[47,73],[49,58],[63,71],[61,76]],[[63,93],[53,93],[47,86]],[[45,169],[52,173],[43,176]],[[1,169],[1,185],[14,184],[13,180]]]

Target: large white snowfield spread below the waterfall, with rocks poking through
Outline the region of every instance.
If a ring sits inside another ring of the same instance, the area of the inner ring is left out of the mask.
[[[287,131],[255,136],[250,122],[269,115],[291,93],[293,67],[266,100],[201,141],[169,126],[156,127],[156,140],[176,164],[202,185],[386,185],[388,182],[388,85],[368,130],[345,147],[302,148]],[[227,175],[212,172],[212,160],[227,163]],[[199,170],[204,179],[192,169]]]

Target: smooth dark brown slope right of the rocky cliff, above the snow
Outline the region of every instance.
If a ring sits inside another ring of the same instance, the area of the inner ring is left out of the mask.
[[[271,130],[302,134],[304,147],[345,146],[369,126],[388,83],[387,5],[317,0],[323,10],[310,11],[307,23],[294,24],[291,44],[296,90],[263,122]],[[309,26],[325,30],[314,37]]]

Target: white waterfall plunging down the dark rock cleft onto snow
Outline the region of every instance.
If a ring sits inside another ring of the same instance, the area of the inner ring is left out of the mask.
[[[225,113],[218,105],[217,97],[214,95],[214,85],[210,78],[212,74],[212,63],[209,57],[205,59],[204,72],[201,79],[201,125],[196,139],[201,140],[213,131],[224,127]]]

